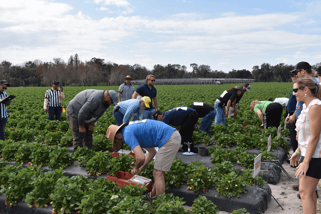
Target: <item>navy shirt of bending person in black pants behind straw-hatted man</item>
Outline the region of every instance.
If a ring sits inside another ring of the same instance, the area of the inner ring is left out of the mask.
[[[187,108],[187,110],[184,110],[182,108]],[[181,126],[185,117],[192,111],[195,110],[189,107],[173,108],[169,111],[163,112],[162,121],[170,126]]]

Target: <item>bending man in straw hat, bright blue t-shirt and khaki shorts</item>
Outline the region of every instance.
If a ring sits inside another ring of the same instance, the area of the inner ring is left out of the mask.
[[[151,200],[165,192],[165,172],[170,171],[181,143],[181,136],[175,128],[159,121],[138,120],[123,123],[121,126],[109,126],[106,137],[113,142],[112,148],[115,152],[122,147],[123,142],[133,150],[136,163],[131,167],[131,174],[139,174],[157,153],[152,171],[154,185],[151,195],[146,197]],[[158,151],[154,147],[158,147]],[[146,156],[141,148],[148,151]]]

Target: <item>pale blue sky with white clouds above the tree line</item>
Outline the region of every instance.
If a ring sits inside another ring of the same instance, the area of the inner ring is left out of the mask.
[[[321,62],[321,2],[11,0],[0,4],[0,62],[209,65]]]

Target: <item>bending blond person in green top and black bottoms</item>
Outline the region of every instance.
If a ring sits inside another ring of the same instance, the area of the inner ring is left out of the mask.
[[[263,128],[279,127],[283,111],[281,104],[272,101],[254,100],[250,105],[250,109],[260,118]]]

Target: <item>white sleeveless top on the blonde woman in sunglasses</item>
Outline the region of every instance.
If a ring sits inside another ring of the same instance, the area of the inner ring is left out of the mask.
[[[299,115],[295,123],[295,126],[296,126],[295,130],[298,133],[298,143],[301,146],[300,148],[301,148],[302,156],[305,156],[306,148],[311,138],[310,129],[309,129],[310,127],[309,110],[310,110],[310,107],[313,105],[321,105],[321,100],[314,99],[310,102],[310,104],[307,107],[305,104],[303,104],[301,114]],[[321,157],[321,133],[312,157],[316,157],[316,158]]]

